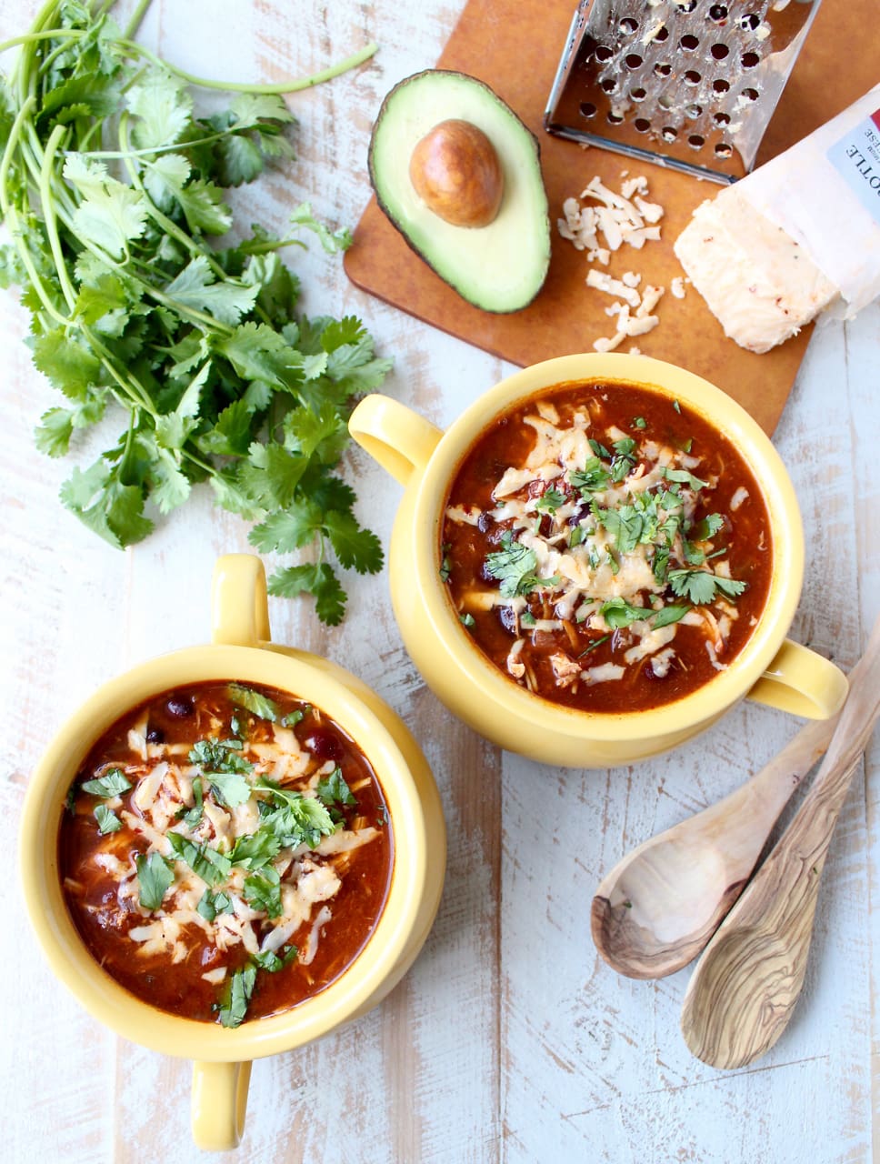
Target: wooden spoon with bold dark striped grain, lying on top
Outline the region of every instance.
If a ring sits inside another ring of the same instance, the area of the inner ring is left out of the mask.
[[[819,879],[850,780],[880,715],[880,619],[822,767],[792,823],[707,946],[688,984],[684,1042],[743,1067],[776,1042],[803,985]]]

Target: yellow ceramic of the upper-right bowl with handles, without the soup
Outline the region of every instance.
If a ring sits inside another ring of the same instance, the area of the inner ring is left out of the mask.
[[[542,389],[572,381],[647,385],[690,405],[737,446],[764,492],[773,531],[773,576],[746,646],[710,682],[647,711],[594,714],[532,695],[471,643],[440,580],[440,528],[447,491],[480,434]],[[738,700],[810,718],[832,716],[846,695],[843,673],[786,638],[801,595],[803,532],[792,482],[767,435],[731,397],[707,381],[647,356],[561,356],[518,371],[474,402],[441,432],[384,396],[369,396],[349,428],[405,485],[389,554],[391,602],[404,644],[427,684],[459,718],[502,747],[545,764],[608,767],[681,744]]]

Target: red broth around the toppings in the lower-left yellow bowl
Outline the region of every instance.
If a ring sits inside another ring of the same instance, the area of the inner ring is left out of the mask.
[[[247,687],[272,700],[283,715],[303,712],[293,732],[303,751],[311,752],[307,774],[284,782],[282,787],[299,790],[308,785],[321,765],[329,767],[333,762],[341,769],[356,799],[355,805],[334,805],[343,828],[350,829],[353,824],[360,828],[366,822],[377,830],[372,839],[349,852],[327,858],[314,858],[310,852],[304,854],[310,860],[320,859],[321,864],[332,865],[340,876],[341,886],[328,902],[332,917],[320,928],[311,964],[305,965],[299,958],[293,958],[274,972],[257,970],[253,995],[247,1006],[247,1020],[251,1020],[286,1010],[319,993],[357,958],[372,934],[388,897],[393,867],[393,838],[376,774],[354,740],[318,709],[286,693],[262,684],[249,683]],[[183,928],[182,941],[186,947],[183,960],[172,963],[168,951],[144,953],[140,943],[129,937],[129,932],[159,915],[156,911],[144,915],[137,908],[136,896],[123,901],[114,878],[98,866],[94,858],[101,852],[121,852],[122,860],[129,867],[129,875],[134,876],[135,857],[148,851],[149,840],[128,825],[101,836],[94,809],[102,801],[83,792],[80,786],[95,771],[106,772],[108,767],[127,769],[132,773],[129,780],[134,787],[121,797],[122,803],[116,808],[116,815],[129,811],[143,818],[144,814],[133,800],[139,787],[134,769],[136,766],[143,767],[143,761],[129,746],[128,732],[144,716],[148,740],[154,748],[180,746],[184,748],[184,761],[194,741],[211,737],[228,738],[230,719],[236,716],[240,724],[242,721],[247,722],[242,753],[246,757],[253,755],[251,745],[267,734],[270,725],[236,707],[229,698],[228,689],[229,684],[223,682],[182,687],[146,701],[116,721],[92,747],[71,786],[68,805],[72,811],[63,814],[58,836],[65,903],[92,957],[112,978],[142,1001],[180,1017],[207,1022],[217,1021],[223,994],[228,994],[230,977],[249,964],[247,950],[241,943],[236,943],[222,951],[201,929],[190,923]],[[191,705],[192,712],[175,715],[171,710],[175,701],[180,705]],[[207,778],[204,782],[207,783]],[[207,787],[204,799],[214,800]],[[193,797],[190,796],[186,805],[192,804]],[[176,824],[171,819],[169,830],[175,829]],[[217,836],[211,836],[211,828],[207,832],[207,844],[215,847]],[[178,867],[185,867],[185,861],[182,863],[179,858],[175,863],[175,868]],[[168,897],[163,906],[166,902]],[[319,908],[320,904],[313,908],[310,916],[290,935],[282,953],[291,944],[299,946],[301,952]],[[254,929],[258,938],[268,932],[269,923],[265,917],[262,922],[255,921]],[[212,984],[201,977],[221,966],[227,968],[223,984]]]

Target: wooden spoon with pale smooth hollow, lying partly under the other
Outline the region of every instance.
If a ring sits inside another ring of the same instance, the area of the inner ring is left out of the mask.
[[[603,878],[590,928],[613,970],[663,978],[696,958],[741,893],[795,788],[828,747],[836,722],[802,728],[730,796],[646,840]]]

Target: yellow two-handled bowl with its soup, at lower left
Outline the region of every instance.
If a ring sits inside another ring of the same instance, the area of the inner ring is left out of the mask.
[[[421,949],[446,833],[403,722],[350,673],[269,641],[265,576],[219,560],[213,643],[91,696],[34,773],[31,924],[118,1034],[194,1060],[193,1135],[228,1149],[250,1060],[364,1014]]]

